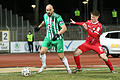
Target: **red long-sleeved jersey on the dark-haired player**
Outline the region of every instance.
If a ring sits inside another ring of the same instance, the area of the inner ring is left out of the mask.
[[[87,38],[86,43],[88,44],[100,44],[99,37],[102,31],[102,25],[100,22],[92,23],[91,20],[87,22],[76,22],[77,25],[87,24]]]

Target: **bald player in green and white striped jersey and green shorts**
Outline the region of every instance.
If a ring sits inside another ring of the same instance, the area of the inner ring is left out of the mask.
[[[44,21],[35,29],[38,31],[43,25],[46,26],[46,37],[40,50],[40,59],[42,66],[38,73],[46,68],[46,52],[54,45],[58,56],[65,65],[68,74],[71,74],[71,69],[68,64],[67,58],[64,56],[63,33],[67,27],[59,14],[54,12],[53,6],[48,4],[46,6],[46,13],[44,14]]]

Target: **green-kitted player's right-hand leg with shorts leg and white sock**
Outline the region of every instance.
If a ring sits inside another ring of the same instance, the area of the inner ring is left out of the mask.
[[[53,44],[55,45],[56,52],[58,53],[59,58],[61,59],[62,63],[65,65],[68,73],[71,74],[71,69],[69,67],[68,60],[64,56],[63,40],[53,41]]]

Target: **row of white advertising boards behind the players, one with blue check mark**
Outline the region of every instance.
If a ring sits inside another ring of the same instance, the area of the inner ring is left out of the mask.
[[[40,47],[43,41],[35,41],[33,43],[33,52],[40,52]],[[75,51],[75,49],[81,45],[85,40],[67,40],[64,41],[64,51]],[[29,52],[27,42],[11,42],[11,53],[24,53]],[[55,52],[53,47],[49,52]]]

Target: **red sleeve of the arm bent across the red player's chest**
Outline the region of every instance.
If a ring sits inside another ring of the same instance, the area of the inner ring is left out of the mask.
[[[87,28],[87,32],[94,38],[100,36],[101,30],[102,30],[102,25],[98,25],[98,27],[95,30],[91,30],[90,28]]]

